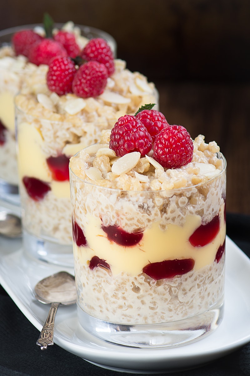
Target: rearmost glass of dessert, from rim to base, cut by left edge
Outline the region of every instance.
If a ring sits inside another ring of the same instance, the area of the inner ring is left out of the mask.
[[[70,39],[73,45],[71,53],[82,49],[89,39],[100,37],[108,41],[114,55],[116,54],[114,38],[102,30],[75,25],[70,21],[66,24],[55,23],[52,29],[53,38],[56,38],[59,31],[59,35],[62,33],[73,35],[73,39],[72,37]],[[6,202],[15,206],[20,205],[14,97],[30,75],[35,74],[39,69],[36,62],[31,62],[28,56],[31,44],[44,37],[43,24],[24,25],[0,31],[0,199],[3,201],[2,205]],[[24,47],[25,38],[27,38],[26,47]]]

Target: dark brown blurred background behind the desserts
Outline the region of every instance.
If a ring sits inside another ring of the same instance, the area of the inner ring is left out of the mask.
[[[249,0],[10,0],[0,29],[73,21],[110,33],[117,57],[153,81],[160,111],[228,162],[227,211],[250,214]]]

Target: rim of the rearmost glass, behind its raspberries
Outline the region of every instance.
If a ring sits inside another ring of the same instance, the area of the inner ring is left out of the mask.
[[[66,24],[66,22],[55,22],[54,28],[61,28],[65,24]],[[3,36],[7,36],[9,34],[16,33],[17,31],[20,31],[20,30],[34,29],[34,27],[37,27],[37,26],[43,27],[43,23],[26,24],[26,25],[8,27],[7,29],[0,30],[0,38],[3,37]],[[115,41],[114,37],[111,34],[109,34],[108,32],[106,32],[104,30],[98,29],[97,27],[93,27],[93,26],[80,25],[80,24],[74,23],[74,27],[79,27],[79,29],[85,34],[85,35],[82,35],[82,36],[85,36],[86,38],[88,38],[87,35],[91,35],[91,33],[100,34],[100,36],[103,35],[103,38],[106,39],[106,41],[108,41],[110,43],[110,45],[112,47],[112,51],[114,53],[114,56],[116,56],[117,42]],[[89,39],[91,39],[91,38],[89,38]]]

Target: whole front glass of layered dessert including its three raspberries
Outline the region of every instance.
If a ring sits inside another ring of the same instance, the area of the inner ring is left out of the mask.
[[[150,116],[121,117],[70,158],[77,309],[102,340],[171,347],[223,318],[226,161]]]

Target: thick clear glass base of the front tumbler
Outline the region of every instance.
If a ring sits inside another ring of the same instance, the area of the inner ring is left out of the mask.
[[[197,341],[212,333],[222,321],[224,299],[209,311],[171,323],[124,325],[94,318],[77,305],[81,326],[90,334],[109,343],[140,347],[174,347]]]

